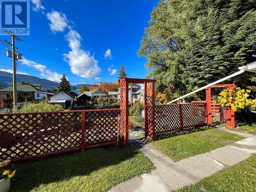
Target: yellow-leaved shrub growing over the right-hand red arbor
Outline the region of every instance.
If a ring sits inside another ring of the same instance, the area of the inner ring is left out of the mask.
[[[244,90],[241,88],[236,88],[234,90],[225,89],[223,90],[218,98],[217,102],[222,107],[231,106],[232,110],[235,112],[240,112],[240,110],[249,107],[251,110],[256,109],[256,99],[249,99],[249,93],[251,90]]]

